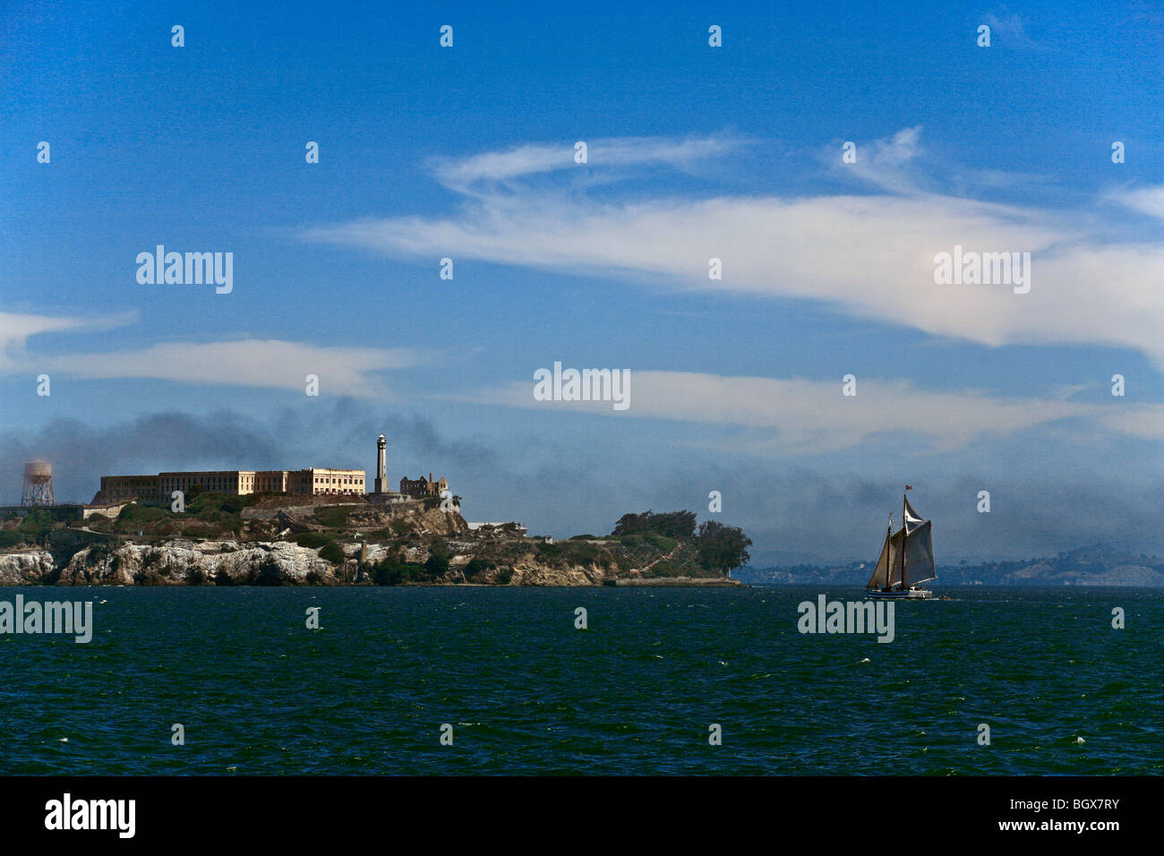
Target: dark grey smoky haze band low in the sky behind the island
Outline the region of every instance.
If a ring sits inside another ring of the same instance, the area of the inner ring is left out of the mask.
[[[703,451],[634,460],[601,444],[566,447],[553,437],[478,439],[471,429],[440,430],[417,413],[369,411],[339,401],[305,415],[288,409],[269,420],[232,411],[208,416],[163,412],[90,426],[59,419],[43,430],[0,436],[0,503],[20,501],[23,465],[44,458],[58,501],[90,501],[105,474],[163,469],[375,468],[375,438],[389,438],[389,477],[446,475],[470,519],[518,519],[558,537],[608,532],[626,511],[687,508],[701,519],[708,493],[723,494],[719,519],[754,542],[757,564],[871,559],[886,515],[900,522],[900,477],[828,476],[810,466],[751,461],[733,466]],[[967,475],[968,461],[908,462],[920,511],[935,521],[939,560],[1030,558],[1108,543],[1131,552],[1164,552],[1154,482],[1007,469]],[[896,469],[896,468],[895,468]],[[861,472],[854,468],[854,473]],[[977,511],[991,490],[989,514]]]

